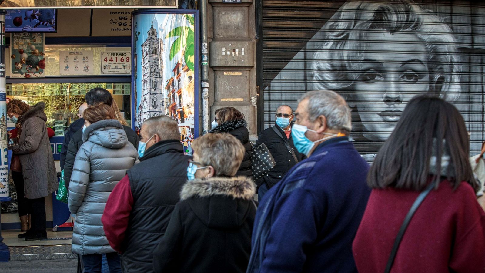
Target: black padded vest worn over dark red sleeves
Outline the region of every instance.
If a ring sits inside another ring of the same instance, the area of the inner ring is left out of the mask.
[[[127,171],[134,203],[121,249],[123,272],[153,271],[153,250],[180,200],[189,159],[180,141],[166,140],[147,149],[140,163]]]

